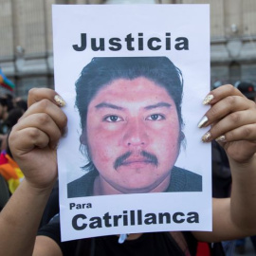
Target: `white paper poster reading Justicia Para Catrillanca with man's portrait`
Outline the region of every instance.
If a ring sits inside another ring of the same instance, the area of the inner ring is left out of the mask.
[[[62,240],[211,229],[209,5],[53,6]]]

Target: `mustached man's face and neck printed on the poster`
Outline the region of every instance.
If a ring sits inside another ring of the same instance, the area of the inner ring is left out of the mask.
[[[90,101],[86,125],[81,141],[100,173],[99,193],[167,189],[179,153],[180,124],[164,87],[144,77],[115,80]]]

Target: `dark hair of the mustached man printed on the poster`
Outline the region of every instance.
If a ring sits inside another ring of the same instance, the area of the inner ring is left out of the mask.
[[[138,77],[144,77],[167,90],[175,102],[181,131],[183,77],[167,57],[97,57],[83,67],[76,82],[76,106],[81,118],[82,133],[86,133],[88,105],[101,88],[118,79],[134,80]]]

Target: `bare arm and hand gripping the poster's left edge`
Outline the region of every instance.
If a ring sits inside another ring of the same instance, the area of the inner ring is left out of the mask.
[[[50,89],[31,90],[27,112],[9,135],[10,151],[25,179],[0,214],[3,255],[32,255],[37,229],[57,178],[56,146],[66,125],[55,95]],[[46,238],[38,240],[44,242]],[[53,240],[42,251],[43,242],[37,243],[33,255],[62,255]]]

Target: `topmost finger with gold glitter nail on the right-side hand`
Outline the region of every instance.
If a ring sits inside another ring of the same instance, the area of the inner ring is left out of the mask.
[[[228,96],[241,96],[246,98],[237,88],[231,84],[226,84],[219,86],[218,88],[212,90],[204,99],[204,105],[212,105],[218,101],[223,100]]]

